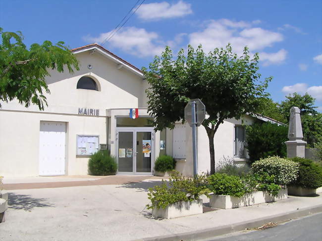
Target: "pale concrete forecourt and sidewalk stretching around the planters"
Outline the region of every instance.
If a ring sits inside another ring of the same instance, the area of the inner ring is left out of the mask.
[[[0,223],[0,240],[192,241],[322,211],[322,195],[289,196],[273,203],[227,210],[206,209],[208,212],[200,215],[159,219],[145,205],[149,201],[148,188],[160,181],[139,181],[142,178],[147,177],[110,176],[84,181],[82,187],[59,188],[56,186],[61,183],[51,183],[47,185],[56,188],[7,191],[9,209],[6,221]],[[209,199],[203,199],[209,205]]]

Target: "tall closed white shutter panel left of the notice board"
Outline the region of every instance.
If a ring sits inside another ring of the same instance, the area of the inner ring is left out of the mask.
[[[65,122],[40,122],[39,175],[65,174],[65,138]]]

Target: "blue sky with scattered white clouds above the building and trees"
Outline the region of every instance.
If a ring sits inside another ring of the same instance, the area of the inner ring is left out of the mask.
[[[25,43],[102,43],[137,0],[0,1],[0,27]],[[141,2],[141,0],[139,1]],[[104,47],[141,68],[166,45],[206,51],[228,42],[260,53],[275,101],[292,92],[317,98],[322,112],[322,0],[146,0]]]

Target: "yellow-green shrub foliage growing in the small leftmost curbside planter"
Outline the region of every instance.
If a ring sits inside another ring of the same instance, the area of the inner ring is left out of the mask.
[[[175,202],[198,200],[203,194],[208,196],[210,191],[206,188],[205,180],[203,175],[185,178],[175,172],[168,183],[162,181],[161,185],[149,189],[148,198],[151,204],[148,204],[147,208],[166,208]]]

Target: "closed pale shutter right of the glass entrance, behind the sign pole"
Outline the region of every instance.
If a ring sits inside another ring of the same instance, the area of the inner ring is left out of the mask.
[[[173,129],[173,158],[186,158],[186,125],[181,123]]]

